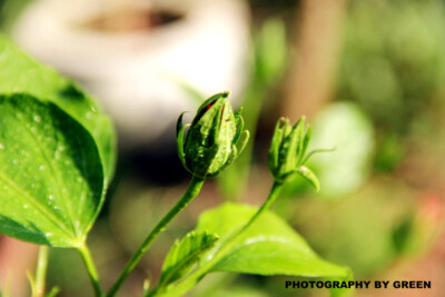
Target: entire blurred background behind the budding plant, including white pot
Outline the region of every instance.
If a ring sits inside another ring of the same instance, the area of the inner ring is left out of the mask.
[[[174,240],[205,209],[260,205],[275,122],[303,115],[313,147],[336,150],[309,164],[322,191],[297,178],[275,211],[357,280],[433,283],[355,296],[444,296],[445,1],[0,0],[0,26],[113,118],[117,175],[89,236],[105,287],[190,179],[176,154],[179,112],[229,90],[253,141],[159,237],[120,296],[157,280]],[[0,284],[12,296],[29,294],[34,260],[36,246],[0,237]],[[328,295],[285,290],[285,279],[215,274],[189,296]],[[51,250],[51,286],[92,296],[75,250]]]

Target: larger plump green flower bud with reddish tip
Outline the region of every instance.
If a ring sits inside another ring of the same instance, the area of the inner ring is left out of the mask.
[[[196,112],[191,125],[177,125],[178,154],[184,167],[198,178],[211,178],[227,168],[243,151],[249,133],[243,131],[241,110],[234,115],[228,92],[214,95]],[[190,129],[185,137],[185,128]],[[237,143],[245,133],[240,149]],[[184,142],[184,138],[186,141]]]

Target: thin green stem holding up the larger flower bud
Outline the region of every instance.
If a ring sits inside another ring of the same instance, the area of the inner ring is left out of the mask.
[[[179,201],[168,211],[168,214],[156,225],[156,227],[151,230],[151,232],[147,236],[144,242],[140,245],[138,250],[132,255],[131,259],[127,263],[123,270],[120,273],[120,276],[115,281],[115,284],[109,289],[107,296],[112,297],[118,291],[120,286],[127,279],[128,275],[135,269],[136,265],[140,261],[142,256],[147,253],[152,241],[158,237],[158,235],[164,231],[166,226],[180,212],[182,209],[195,198],[198,196],[201,187],[204,185],[205,179],[200,179],[194,176],[188,186],[184,196],[179,199]]]

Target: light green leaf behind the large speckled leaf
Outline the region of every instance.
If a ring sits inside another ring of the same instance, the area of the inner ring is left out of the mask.
[[[110,118],[71,80],[42,66],[0,34],[0,93],[29,93],[58,105],[78,120],[93,137],[99,148],[108,181],[116,161],[116,135]]]

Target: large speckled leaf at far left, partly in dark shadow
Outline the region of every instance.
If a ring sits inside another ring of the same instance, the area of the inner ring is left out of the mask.
[[[88,130],[52,102],[0,96],[0,232],[80,246],[102,192],[100,156]]]

